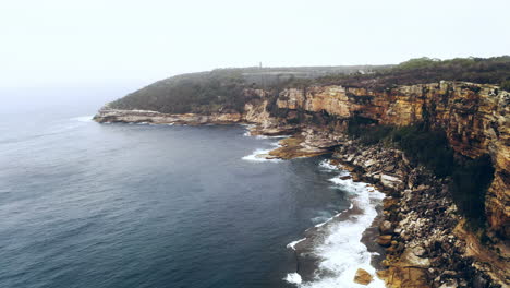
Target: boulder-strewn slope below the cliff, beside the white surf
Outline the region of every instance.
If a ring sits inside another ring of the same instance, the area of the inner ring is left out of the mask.
[[[387,196],[377,219],[386,259],[377,276],[387,287],[448,288],[508,287],[509,259],[496,255],[484,262],[467,253],[477,241],[464,229],[448,191],[448,179],[438,179],[413,165],[405,155],[380,144],[343,142],[333,161],[348,167],[359,181],[373,183]]]

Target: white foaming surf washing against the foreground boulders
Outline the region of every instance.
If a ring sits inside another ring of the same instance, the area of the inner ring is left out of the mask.
[[[327,160],[323,161],[320,166],[326,169],[338,169]],[[367,286],[362,286],[353,280],[359,268],[375,275],[376,269],[371,265],[372,253],[368,252],[361,239],[363,232],[371,227],[377,216],[376,207],[381,205],[385,194],[367,183],[354,182],[347,177],[350,173],[345,170],[338,171],[339,175],[331,178],[330,181],[349,193],[352,204],[349,209],[316,225],[316,230],[313,232],[315,237],[312,239],[292,242],[291,248],[295,249],[298,256],[300,256],[300,248],[296,245],[309,240],[311,242],[303,243],[303,247],[312,244],[312,253],[315,254],[318,262],[312,280],[301,280],[302,276],[300,275],[300,281],[296,283],[294,281],[296,273],[290,273],[286,280],[296,284],[300,288],[384,288],[384,281],[377,277],[374,277],[374,280]]]

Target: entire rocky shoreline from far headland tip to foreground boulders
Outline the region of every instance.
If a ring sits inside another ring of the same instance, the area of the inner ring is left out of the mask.
[[[262,124],[241,115],[162,115],[101,109],[95,120],[159,124],[255,122],[250,129],[252,135],[291,135],[280,141],[279,148],[260,157],[291,159],[328,154],[331,164],[352,172],[353,180],[372,183],[387,195],[380,217],[363,238],[372,252],[386,255],[380,263],[380,259],[373,259],[374,266],[379,269],[377,275],[359,271],[359,283],[367,284],[366,279],[377,276],[387,287],[394,288],[509,287],[508,253],[487,249],[464,229],[465,221],[457,213],[448,191],[448,179],[438,179],[425,168],[413,165],[396,148],[380,144],[363,146],[343,133],[331,133],[318,127]],[[374,233],[374,227],[378,227],[376,230],[380,235]],[[502,247],[507,247],[506,243]],[[305,268],[308,275],[305,278],[309,279],[314,273],[313,263],[317,261],[306,262],[309,265]]]

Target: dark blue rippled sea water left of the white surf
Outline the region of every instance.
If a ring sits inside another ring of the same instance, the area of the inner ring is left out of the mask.
[[[276,142],[243,127],[75,111],[0,125],[2,288],[286,287],[286,245],[349,206],[320,158],[243,160]]]

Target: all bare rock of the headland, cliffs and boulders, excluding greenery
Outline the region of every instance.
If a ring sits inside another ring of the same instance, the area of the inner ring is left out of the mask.
[[[360,271],[359,283],[377,276],[387,287],[509,287],[509,92],[494,84],[439,81],[386,88],[243,87],[239,97],[241,108],[206,113],[125,109],[113,103],[95,120],[248,123],[254,135],[290,135],[264,157],[329,154],[331,163],[349,169],[354,180],[372,183],[387,195],[381,216],[374,223],[379,235],[368,236],[385,259],[376,265],[380,267],[377,275]],[[363,141],[374,129],[416,124],[426,131],[442,131],[445,146],[451,149],[456,163],[489,159],[490,169],[485,172],[490,177],[478,201],[484,207],[482,227],[470,224],[452,196],[457,175],[436,175],[398,144]]]

